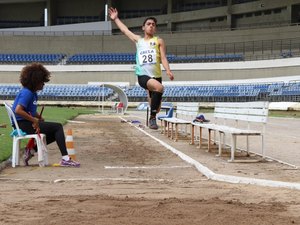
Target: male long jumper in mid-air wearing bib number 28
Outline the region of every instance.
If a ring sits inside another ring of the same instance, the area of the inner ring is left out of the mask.
[[[148,97],[151,107],[149,128],[158,129],[156,114],[160,110],[164,87],[162,85],[163,65],[170,80],[174,80],[166,57],[166,47],[163,39],[154,36],[157,20],[154,17],[145,19],[142,29],[144,37],[131,32],[128,27],[119,19],[118,11],[115,8],[109,9],[110,19],[115,22],[118,28],[136,44],[136,69],[139,85],[148,90]]]

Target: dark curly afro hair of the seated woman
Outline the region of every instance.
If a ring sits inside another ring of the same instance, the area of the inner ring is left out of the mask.
[[[50,80],[50,72],[41,63],[32,63],[25,66],[20,75],[20,82],[23,87],[36,91],[41,83]]]

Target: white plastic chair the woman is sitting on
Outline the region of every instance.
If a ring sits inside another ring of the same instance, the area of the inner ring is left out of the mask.
[[[12,124],[12,130],[16,130],[16,135],[13,136],[13,148],[12,148],[12,160],[11,164],[12,167],[15,167],[16,165],[20,165],[20,142],[22,139],[30,139],[34,138],[37,144],[37,150],[38,150],[38,162],[39,166],[46,166],[48,165],[48,152],[47,152],[47,142],[46,142],[46,135],[45,134],[27,134],[22,135],[22,132],[19,128],[16,116],[11,108],[11,105],[4,102],[4,106],[6,108],[8,117],[10,119],[10,122]],[[15,127],[13,127],[13,125]]]

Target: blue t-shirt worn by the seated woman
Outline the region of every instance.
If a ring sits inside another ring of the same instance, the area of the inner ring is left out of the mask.
[[[18,93],[17,97],[15,98],[12,107],[13,111],[15,112],[17,105],[21,105],[24,107],[24,110],[28,114],[35,116],[37,110],[37,100],[38,100],[38,96],[36,92],[30,91],[28,88],[22,88]],[[24,118],[19,116],[18,114],[16,114],[16,119],[24,120]]]

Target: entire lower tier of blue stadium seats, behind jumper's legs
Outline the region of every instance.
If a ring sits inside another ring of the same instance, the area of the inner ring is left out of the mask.
[[[14,99],[20,85],[0,85],[0,99]],[[147,93],[140,86],[121,87],[129,101],[147,101]],[[42,100],[82,100],[96,101],[99,96],[109,98],[113,90],[98,85],[46,84],[39,92]],[[256,84],[220,84],[165,86],[164,101],[198,102],[241,102],[241,101],[299,101],[300,82],[256,83]]]

